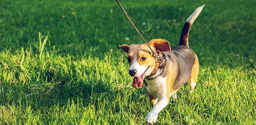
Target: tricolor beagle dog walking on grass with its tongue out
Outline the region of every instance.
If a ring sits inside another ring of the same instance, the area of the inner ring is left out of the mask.
[[[159,112],[168,105],[170,97],[176,99],[176,92],[186,82],[191,92],[195,88],[199,61],[189,48],[188,39],[192,23],[203,7],[198,7],[184,23],[178,46],[171,48],[169,42],[162,39],[148,42],[161,59],[156,58],[146,44],[119,46],[127,53],[129,73],[134,77],[133,86],[140,88],[144,85],[153,104],[153,109],[146,117],[149,124],[156,122]]]

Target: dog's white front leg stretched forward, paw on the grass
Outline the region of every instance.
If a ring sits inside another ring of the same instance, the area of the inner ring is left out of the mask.
[[[153,109],[147,115],[146,121],[149,124],[153,124],[156,122],[158,114],[162,109],[164,109],[169,103],[168,97],[159,97],[159,101],[156,105],[153,106]]]

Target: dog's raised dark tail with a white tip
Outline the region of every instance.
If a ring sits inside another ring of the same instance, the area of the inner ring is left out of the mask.
[[[193,14],[190,15],[190,17],[185,22],[185,24],[183,26],[183,29],[182,29],[182,32],[181,32],[181,35],[180,35],[180,43],[179,43],[179,45],[189,46],[189,31],[190,31],[190,28],[191,28],[193,22],[195,21],[196,17],[202,11],[204,6],[205,5],[196,8],[196,10],[193,12]]]

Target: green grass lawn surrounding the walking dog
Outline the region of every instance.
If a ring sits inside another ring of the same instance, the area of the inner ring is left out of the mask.
[[[254,1],[121,2],[146,40],[171,46],[206,4],[190,34],[196,89],[183,86],[156,124],[256,124]],[[115,1],[1,0],[0,124],[144,124],[152,105],[118,48],[137,43]]]

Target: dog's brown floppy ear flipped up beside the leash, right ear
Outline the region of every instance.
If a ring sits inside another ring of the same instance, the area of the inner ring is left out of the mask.
[[[148,44],[155,47],[158,51],[161,52],[171,51],[170,43],[166,40],[153,39]]]

